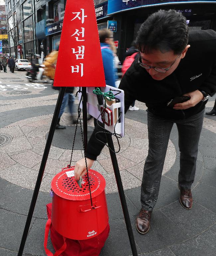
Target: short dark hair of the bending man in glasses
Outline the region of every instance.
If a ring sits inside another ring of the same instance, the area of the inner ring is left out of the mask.
[[[138,49],[143,53],[153,50],[180,54],[188,44],[186,18],[175,10],[159,10],[148,17],[137,35]]]

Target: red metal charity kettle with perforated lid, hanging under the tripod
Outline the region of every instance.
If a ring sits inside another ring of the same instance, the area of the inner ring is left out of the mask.
[[[63,168],[52,180],[52,225],[64,237],[85,240],[99,235],[108,225],[104,177],[88,170],[82,177],[82,188],[74,179],[74,167]]]

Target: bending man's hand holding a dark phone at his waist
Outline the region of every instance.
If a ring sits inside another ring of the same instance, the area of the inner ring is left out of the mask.
[[[199,103],[203,99],[203,94],[196,90],[193,92],[188,92],[184,94],[183,96],[189,96],[190,99],[183,102],[183,103],[177,103],[174,105],[173,109],[187,109],[194,107],[197,103]]]

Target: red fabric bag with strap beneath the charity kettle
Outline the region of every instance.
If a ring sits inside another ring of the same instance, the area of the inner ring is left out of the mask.
[[[109,236],[109,224],[105,230],[96,237],[86,240],[73,240],[57,233],[51,223],[52,203],[47,204],[48,221],[45,227],[44,248],[47,256],[99,256],[106,239]],[[51,241],[55,250],[53,254],[47,248],[50,231]]]

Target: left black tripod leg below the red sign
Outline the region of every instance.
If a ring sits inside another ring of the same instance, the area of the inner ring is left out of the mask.
[[[36,181],[35,190],[34,190],[34,193],[33,193],[31,205],[30,205],[30,208],[29,208],[29,213],[28,213],[27,220],[26,220],[25,229],[24,229],[24,232],[23,232],[23,237],[22,237],[22,240],[21,240],[21,244],[20,244],[20,248],[19,248],[19,252],[18,252],[17,256],[22,256],[23,255],[23,250],[24,250],[27,235],[28,235],[28,232],[29,232],[29,227],[30,227],[33,212],[34,212],[34,209],[35,209],[35,204],[36,204],[36,201],[37,201],[37,198],[38,198],[38,193],[39,193],[39,189],[40,189],[40,186],[41,186],[41,181],[42,181],[42,178],[43,178],[43,175],[44,175],[44,170],[45,170],[45,166],[46,166],[46,163],[47,163],[47,158],[48,158],[48,155],[49,155],[49,152],[50,152],[51,143],[53,141],[55,126],[56,126],[56,123],[57,123],[57,119],[58,119],[58,115],[59,115],[59,112],[60,112],[61,103],[62,103],[62,100],[63,100],[63,97],[64,97],[65,90],[66,90],[66,87],[61,87],[59,95],[58,95],[58,99],[57,99],[57,103],[56,103],[55,111],[54,111],[54,115],[53,115],[53,120],[52,120],[51,127],[50,127],[50,132],[49,132],[49,135],[48,135],[48,138],[47,138],[47,143],[46,143],[46,146],[45,146],[45,149],[44,149],[44,155],[43,155],[43,158],[42,158],[41,167],[40,167],[40,170],[39,170],[39,173],[38,173],[38,178],[37,178],[37,181]]]

